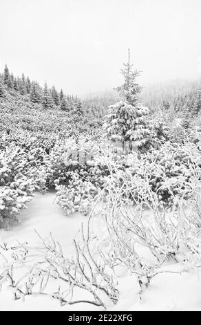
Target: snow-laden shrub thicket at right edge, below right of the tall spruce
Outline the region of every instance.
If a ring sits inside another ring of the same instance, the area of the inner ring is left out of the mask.
[[[191,179],[200,179],[200,167],[200,153],[194,145],[173,146],[167,142],[138,160],[134,157],[128,170],[130,181],[127,182],[131,188],[135,188],[134,184],[146,182],[159,203],[171,206],[178,198],[191,196]],[[136,197],[138,192],[133,194]]]

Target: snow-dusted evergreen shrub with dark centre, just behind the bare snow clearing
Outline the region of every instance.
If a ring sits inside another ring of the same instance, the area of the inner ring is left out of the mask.
[[[72,146],[68,148],[70,150]],[[92,143],[87,146],[84,143],[82,148],[83,151],[87,152],[88,149],[89,152]],[[105,177],[114,174],[117,169],[123,169],[123,166],[118,162],[116,155],[109,151],[95,154],[94,150],[94,156],[89,156],[85,165],[80,165],[78,160],[72,158],[67,157],[65,160],[63,150],[56,152],[59,152],[57,166],[60,167],[59,177],[54,180],[57,203],[66,210],[67,214],[72,212],[87,214],[92,209],[98,190],[105,187]]]

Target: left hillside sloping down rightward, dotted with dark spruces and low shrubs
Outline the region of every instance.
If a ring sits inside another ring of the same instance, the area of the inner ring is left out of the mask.
[[[63,91],[44,89],[30,82],[24,75],[14,78],[6,67],[0,80],[0,131],[37,133],[65,133],[70,136],[82,132],[93,133],[100,127],[96,115],[77,96]],[[88,118],[88,115],[93,117]],[[97,114],[98,115],[98,114]],[[82,121],[82,122],[81,122]]]

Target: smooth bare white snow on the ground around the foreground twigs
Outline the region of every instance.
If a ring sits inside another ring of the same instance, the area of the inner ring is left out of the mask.
[[[79,214],[66,216],[54,203],[55,193],[36,194],[29,203],[28,210],[21,212],[21,223],[10,230],[0,230],[0,241],[16,243],[28,241],[30,245],[39,245],[39,237],[43,238],[52,232],[59,241],[63,252],[71,257],[74,250],[72,241],[80,229],[81,223],[87,220]],[[169,265],[169,270],[176,271],[179,263]],[[125,269],[116,270],[120,299],[110,310],[201,310],[201,272],[182,272],[182,274],[164,273],[151,280],[147,290],[139,297],[139,286],[136,277],[130,276]],[[79,297],[81,298],[81,297]],[[84,298],[84,297],[82,297]],[[101,310],[90,304],[64,306],[48,297],[25,297],[25,301],[12,300],[12,293],[3,287],[0,293],[0,310]]]

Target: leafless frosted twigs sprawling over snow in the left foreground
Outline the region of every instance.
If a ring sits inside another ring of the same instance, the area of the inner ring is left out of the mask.
[[[42,239],[42,247],[27,243],[0,245],[0,286],[12,288],[14,300],[27,295],[52,297],[61,306],[93,304],[102,308],[118,301],[118,290],[112,270],[97,251],[96,238],[91,236],[90,219],[87,229],[81,228],[81,239],[74,239],[74,254],[65,257],[58,241]],[[17,270],[20,277],[17,279]],[[82,292],[85,293],[84,298]],[[78,298],[77,298],[78,297]]]

